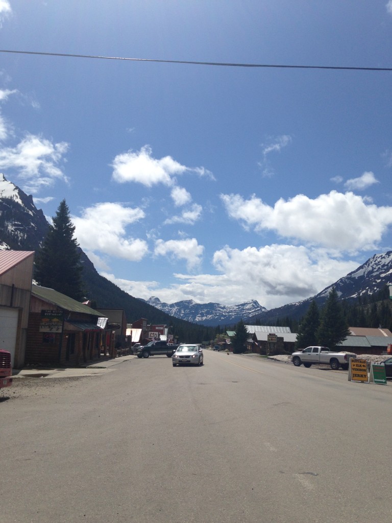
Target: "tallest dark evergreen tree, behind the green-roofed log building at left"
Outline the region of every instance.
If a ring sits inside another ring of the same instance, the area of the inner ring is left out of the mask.
[[[84,297],[83,266],[74,232],[70,211],[63,200],[37,253],[34,278],[41,286],[80,301]]]

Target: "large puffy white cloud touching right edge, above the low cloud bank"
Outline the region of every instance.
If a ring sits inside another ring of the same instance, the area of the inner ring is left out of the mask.
[[[221,195],[230,218],[257,232],[274,231],[308,245],[358,252],[373,249],[392,223],[392,208],[368,204],[352,192],[331,191],[310,199],[297,195],[268,206],[255,195]]]

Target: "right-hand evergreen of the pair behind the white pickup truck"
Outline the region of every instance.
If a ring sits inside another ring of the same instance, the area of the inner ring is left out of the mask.
[[[332,287],[321,310],[320,326],[316,335],[319,345],[324,345],[330,349],[335,348],[350,335],[335,287]]]

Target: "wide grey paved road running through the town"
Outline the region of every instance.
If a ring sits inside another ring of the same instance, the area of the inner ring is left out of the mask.
[[[38,379],[0,402],[2,523],[390,523],[392,383],[211,351]]]

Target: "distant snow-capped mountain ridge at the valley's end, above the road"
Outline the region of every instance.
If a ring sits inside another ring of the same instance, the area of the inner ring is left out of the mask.
[[[192,323],[202,325],[231,325],[241,318],[250,320],[266,312],[256,300],[250,300],[238,305],[221,305],[220,303],[196,303],[193,300],[164,303],[152,296],[147,300],[149,305]]]

